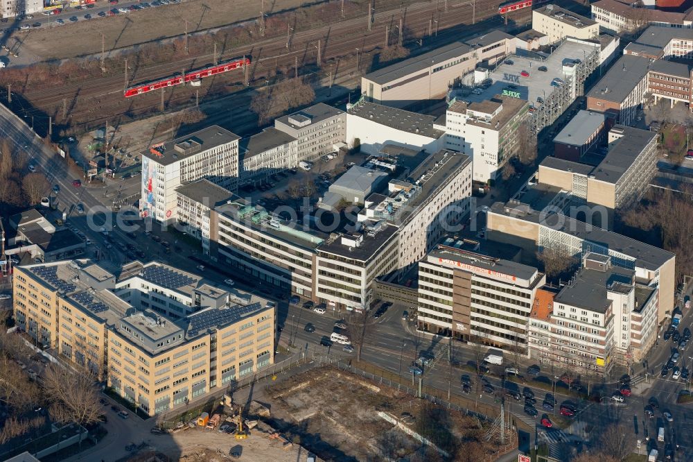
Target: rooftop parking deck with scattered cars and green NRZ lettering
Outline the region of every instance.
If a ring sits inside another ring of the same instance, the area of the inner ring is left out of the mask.
[[[470,103],[480,102],[493,98],[496,94],[502,94],[504,89],[509,89],[509,85],[515,85],[512,92],[518,92],[520,99],[534,103],[537,97],[546,99],[555,87],[551,86],[554,78],[563,78],[563,65],[574,60],[584,60],[585,55],[599,52],[599,44],[586,44],[566,40],[553,53],[545,59],[539,59],[541,55],[534,53],[536,58],[520,55],[513,55],[512,65],[505,60],[501,65],[490,71],[489,78],[493,81],[490,87],[486,88],[481,94],[466,94],[458,99],[463,99]],[[537,68],[545,66],[546,72],[538,71]],[[522,71],[529,72],[529,77],[520,76]]]

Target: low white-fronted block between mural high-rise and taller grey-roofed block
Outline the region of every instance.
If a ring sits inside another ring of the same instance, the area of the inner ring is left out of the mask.
[[[298,166],[298,140],[277,128],[265,128],[240,140],[240,182],[266,180],[278,171]]]

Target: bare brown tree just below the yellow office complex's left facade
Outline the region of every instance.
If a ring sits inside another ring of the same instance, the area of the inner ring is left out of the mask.
[[[75,366],[80,367],[80,366]],[[96,377],[86,368],[78,370],[51,365],[44,373],[44,390],[51,400],[51,417],[62,423],[89,425],[98,421]]]

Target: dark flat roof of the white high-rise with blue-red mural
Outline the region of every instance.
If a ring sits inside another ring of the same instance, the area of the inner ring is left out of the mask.
[[[150,149],[142,151],[141,154],[161,165],[169,165],[238,139],[240,137],[235,133],[231,133],[218,125],[213,125],[169,142],[155,144]],[[157,147],[155,148],[155,146]],[[157,151],[157,153],[152,153],[152,151]]]

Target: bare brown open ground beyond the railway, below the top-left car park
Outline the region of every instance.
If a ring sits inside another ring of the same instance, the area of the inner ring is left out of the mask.
[[[265,1],[265,6],[269,14],[311,3],[319,3],[319,0],[274,0]],[[186,19],[188,33],[193,33],[254,19],[259,15],[259,8],[261,2],[258,0],[190,0],[127,15],[95,17],[88,21],[80,19],[78,24],[19,31],[15,37],[24,42],[21,53],[34,55],[39,60],[72,58],[100,53],[102,33],[108,51],[183,34]],[[79,13],[81,18],[84,13]],[[60,40],[55,40],[58,36]]]

